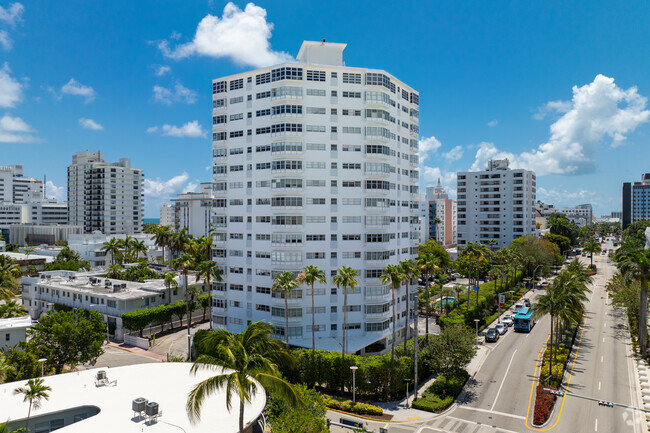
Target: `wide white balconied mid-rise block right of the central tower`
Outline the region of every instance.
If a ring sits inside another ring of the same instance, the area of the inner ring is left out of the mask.
[[[458,246],[470,242],[507,246],[535,233],[535,173],[511,170],[507,159],[488,162],[485,171],[458,172]]]

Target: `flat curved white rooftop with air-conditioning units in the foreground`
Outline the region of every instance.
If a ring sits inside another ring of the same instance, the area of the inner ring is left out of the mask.
[[[32,409],[32,420],[44,414],[65,411],[82,406],[95,406],[97,415],[59,429],[61,433],[162,433],[184,431],[186,433],[237,432],[239,398],[232,396],[232,412],[226,409],[226,394],[219,392],[203,403],[201,420],[191,424],[185,412],[187,394],[194,386],[221,370],[203,370],[194,376],[190,374],[190,363],[162,362],[130,365],[116,368],[101,368],[73,373],[59,374],[44,378],[50,386],[49,400],[42,400],[39,409]],[[110,386],[96,386],[95,375],[105,370]],[[0,419],[17,421],[27,418],[28,404],[23,403],[22,395],[14,395],[13,390],[24,386],[27,381],[0,385]],[[258,392],[245,404],[244,423],[257,420],[266,404],[266,394],[258,385]],[[131,402],[139,397],[156,402],[162,415],[157,423],[147,424],[144,418],[134,417]],[[30,421],[30,425],[32,421]]]

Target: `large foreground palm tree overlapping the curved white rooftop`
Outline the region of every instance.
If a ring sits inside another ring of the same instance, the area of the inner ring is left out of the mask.
[[[205,353],[192,365],[217,374],[199,382],[187,396],[185,409],[192,423],[201,419],[206,398],[225,389],[226,408],[232,409],[233,397],[239,399],[239,433],[244,433],[244,404],[258,393],[258,386],[284,398],[290,405],[301,398],[293,386],[281,378],[278,364],[293,361],[287,348],[273,340],[273,328],[264,322],[253,322],[241,334],[226,329],[212,330],[200,342]]]

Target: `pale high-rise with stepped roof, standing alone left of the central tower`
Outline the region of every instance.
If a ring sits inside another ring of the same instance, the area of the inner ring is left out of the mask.
[[[70,224],[84,226],[85,233],[141,233],[143,177],[129,158],[107,163],[100,152],[77,152],[68,166]]]

